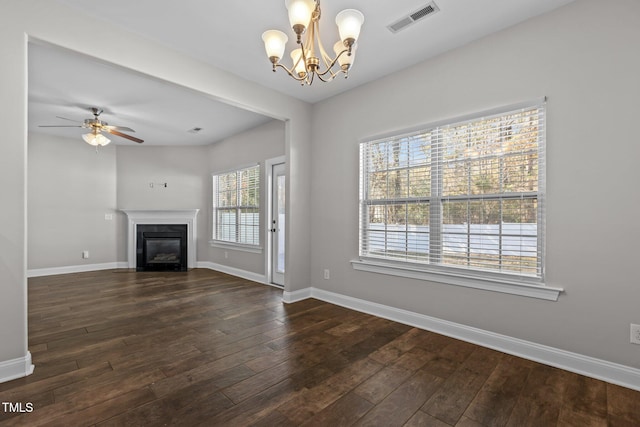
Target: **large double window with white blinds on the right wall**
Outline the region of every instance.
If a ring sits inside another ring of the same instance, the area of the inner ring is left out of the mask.
[[[360,256],[541,281],[544,115],[541,102],[362,143]]]

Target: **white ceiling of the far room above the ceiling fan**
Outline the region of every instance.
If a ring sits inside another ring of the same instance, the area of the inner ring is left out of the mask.
[[[92,118],[125,126],[146,145],[208,145],[271,120],[177,85],[64,49],[29,45],[29,131],[78,138]],[[80,123],[70,122],[75,120]],[[193,128],[202,128],[191,133]],[[105,134],[112,143],[137,145]]]

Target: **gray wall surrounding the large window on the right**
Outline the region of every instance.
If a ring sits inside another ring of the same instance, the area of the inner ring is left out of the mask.
[[[313,286],[640,368],[629,343],[640,323],[640,228],[629,227],[640,214],[639,22],[638,1],[577,1],[316,104]],[[559,301],[352,269],[359,141],[544,95],[546,277],[566,290]]]

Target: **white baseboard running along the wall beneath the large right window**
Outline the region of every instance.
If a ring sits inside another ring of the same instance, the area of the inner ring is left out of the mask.
[[[321,289],[306,288],[294,292],[284,292],[283,295],[285,303],[297,302],[306,298],[315,298],[640,391],[640,369],[629,366]]]

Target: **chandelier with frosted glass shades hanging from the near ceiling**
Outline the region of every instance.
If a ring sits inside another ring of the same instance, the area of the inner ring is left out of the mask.
[[[289,23],[300,47],[291,52],[293,66],[287,68],[280,60],[289,38],[282,31],[265,31],[262,40],[273,65],[273,72],[277,67],[283,68],[302,85],[311,85],[316,76],[323,82],[333,80],[340,73],[344,73],[347,78],[353,64],[364,15],[355,9],[345,9],[338,13],[336,24],[340,40],[333,46],[335,56],[330,56],[320,40],[320,0],[285,0],[285,6],[289,12]]]

